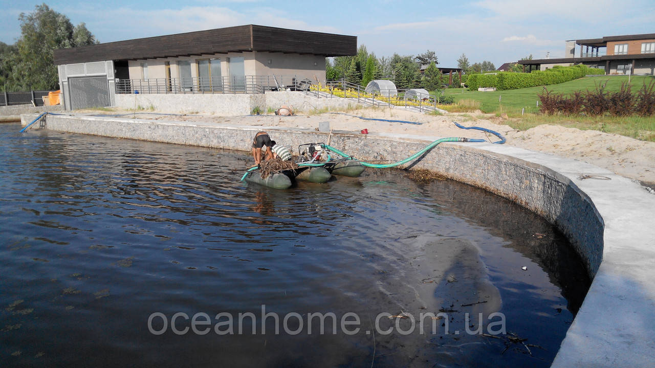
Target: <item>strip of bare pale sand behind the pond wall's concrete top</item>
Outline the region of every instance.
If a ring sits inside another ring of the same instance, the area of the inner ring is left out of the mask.
[[[78,111],[87,114],[121,114],[132,117],[129,111]],[[404,120],[406,122],[387,122],[364,120],[358,117]],[[405,111],[404,109],[364,108],[346,113],[304,114],[280,117],[276,115],[249,115],[242,117],[217,117],[214,115],[163,115],[160,113],[136,113],[137,119],[184,120],[194,122],[221,122],[236,125],[303,127],[318,128],[319,122],[327,121],[333,130],[360,132],[366,128],[369,134],[395,133],[416,136],[416,138],[433,137],[468,137],[497,140],[478,130],[462,130],[453,122],[465,126],[481,126],[500,132],[507,138],[508,145],[514,145],[534,151],[582,160],[606,168],[616,174],[639,180],[649,187],[655,187],[655,143],[638,139],[608,134],[597,130],[579,130],[558,125],[540,125],[525,131],[517,131],[506,124],[505,119],[491,114],[468,113],[448,115],[426,115]]]

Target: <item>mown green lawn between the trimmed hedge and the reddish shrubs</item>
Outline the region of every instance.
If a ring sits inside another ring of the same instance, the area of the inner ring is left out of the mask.
[[[584,77],[560,84],[546,86],[548,90],[562,94],[570,94],[577,90],[595,90],[596,86],[607,83],[605,90],[619,90],[622,83],[627,83],[627,75],[601,75],[599,77]],[[638,75],[630,78],[630,86],[633,93],[637,93],[644,83],[654,81],[654,77]],[[538,113],[536,106],[537,97],[544,90],[543,86],[520,88],[518,90],[506,90],[495,92],[479,92],[463,90],[462,88],[447,88],[444,91],[446,96],[453,96],[455,103],[460,100],[479,101],[483,113],[507,113],[510,116],[520,116],[521,109],[525,113]]]

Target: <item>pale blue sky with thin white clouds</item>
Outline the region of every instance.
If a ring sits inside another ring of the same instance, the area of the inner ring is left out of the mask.
[[[20,37],[21,12],[43,1],[0,1],[0,41]],[[436,52],[441,67],[499,67],[532,54],[563,57],[565,40],[655,33],[654,0],[46,1],[101,43],[259,24],[354,35],[376,56]]]

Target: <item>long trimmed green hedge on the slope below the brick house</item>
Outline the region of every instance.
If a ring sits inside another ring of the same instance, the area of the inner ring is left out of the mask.
[[[471,75],[468,77],[467,84],[469,90],[477,90],[479,87],[496,87],[497,90],[515,90],[518,88],[564,83],[589,74],[605,74],[605,71],[586,65],[555,66],[545,71],[534,70],[532,73],[500,71],[497,75]]]

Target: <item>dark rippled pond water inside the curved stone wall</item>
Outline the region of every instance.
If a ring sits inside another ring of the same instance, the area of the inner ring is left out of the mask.
[[[547,367],[588,289],[551,225],[453,181],[368,170],[274,191],[238,181],[240,153],[19,129],[0,124],[2,367]],[[425,335],[370,333],[383,312],[440,310],[448,334],[431,318]],[[178,312],[210,332],[176,334]],[[314,312],[361,330],[320,335]],[[525,344],[464,333],[479,312]]]

